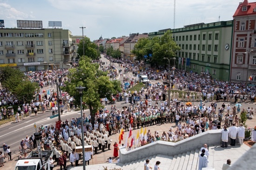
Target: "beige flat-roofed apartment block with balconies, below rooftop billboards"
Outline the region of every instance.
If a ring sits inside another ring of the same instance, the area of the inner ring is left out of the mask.
[[[70,61],[71,44],[69,30],[3,28],[0,29],[0,67],[17,67],[21,71],[65,68],[63,63]]]

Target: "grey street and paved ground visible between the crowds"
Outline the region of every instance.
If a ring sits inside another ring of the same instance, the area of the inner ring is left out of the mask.
[[[105,57],[103,57],[101,55],[101,60],[103,62],[108,62],[108,64],[110,63]],[[118,67],[118,63],[115,63],[116,69],[122,69]],[[132,73],[128,72],[125,76],[133,76]],[[120,81],[122,81],[123,77],[118,77],[118,79]],[[152,84],[155,84],[157,82],[160,81],[152,81]],[[161,83],[161,82],[160,82]],[[205,104],[206,106],[208,106],[211,102],[205,103],[203,102],[203,104]],[[217,108],[221,107],[223,102],[218,102],[217,103]],[[199,101],[194,102],[194,104],[196,106],[198,106],[200,104]],[[235,104],[234,103],[229,103],[229,102],[225,102],[225,105],[228,106],[228,104],[230,104],[231,107],[233,107]],[[255,103],[241,103],[242,104],[242,108],[248,108],[248,107],[253,107],[256,110],[256,105]],[[125,104],[125,101],[120,101],[120,102],[116,102],[115,106],[118,109],[121,109],[124,106],[128,106],[129,103]],[[107,108],[110,109],[111,105],[108,105]],[[70,111],[67,112],[66,107],[64,107],[64,112],[61,115],[61,120],[65,121],[66,119],[69,121],[71,118],[76,118],[76,117],[80,117],[81,112],[80,111]],[[85,110],[83,113],[86,113],[86,115],[89,114],[89,110]],[[50,110],[47,110],[46,113],[42,113],[41,111],[38,113],[37,116],[34,116],[34,113],[32,114],[31,117],[26,117],[25,120],[20,120],[19,123],[16,122],[11,122],[9,124],[3,125],[1,126],[1,130],[0,130],[0,145],[3,145],[3,143],[6,143],[7,145],[11,146],[11,151],[12,151],[12,155],[14,157],[13,161],[8,162],[7,164],[5,164],[5,168],[9,168],[9,169],[13,169],[16,161],[17,160],[15,157],[18,157],[20,155],[19,152],[19,146],[20,146],[20,141],[21,139],[26,138],[26,136],[30,136],[31,134],[33,134],[35,132],[35,128],[34,128],[34,123],[36,124],[37,127],[43,125],[43,126],[51,126],[54,125],[55,126],[55,121],[58,121],[58,117],[55,117],[53,119],[50,119],[50,116],[52,115],[52,112]],[[238,114],[240,115],[240,114]],[[160,134],[162,134],[163,131],[168,132],[169,127],[173,126],[174,127],[174,123],[171,124],[164,124],[164,125],[155,125],[155,126],[149,126],[147,127],[147,129],[152,129],[152,132],[154,131],[159,131]],[[254,127],[256,126],[256,118],[252,119],[252,120],[247,120],[246,125],[248,125],[248,127]],[[161,127],[160,127],[161,126]],[[133,131],[135,134],[137,133],[137,130]],[[126,133],[125,133],[126,134]],[[113,139],[112,144],[113,145],[115,143],[115,141],[118,140],[118,135],[119,134],[115,134],[111,136],[111,139]],[[122,142],[123,143],[123,142]],[[113,147],[113,146],[111,146]],[[0,151],[2,151],[2,148],[0,149]],[[104,153],[98,154],[98,155],[94,155],[94,164],[100,164],[100,163],[105,163],[107,161],[108,157],[112,157],[113,156],[113,150],[112,151],[107,151]],[[5,159],[7,160],[7,159]],[[114,161],[115,162],[115,161]],[[68,165],[70,163],[68,162]],[[91,164],[91,162],[90,162]],[[59,169],[59,167],[55,167],[54,170]]]

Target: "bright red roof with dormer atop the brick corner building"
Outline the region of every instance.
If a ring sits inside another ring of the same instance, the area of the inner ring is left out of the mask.
[[[243,6],[247,6],[246,11],[242,11]],[[233,17],[240,16],[240,15],[256,14],[256,12],[254,12],[255,8],[256,8],[256,2],[249,3],[248,0],[244,0],[243,3],[239,4],[239,6],[237,7]]]

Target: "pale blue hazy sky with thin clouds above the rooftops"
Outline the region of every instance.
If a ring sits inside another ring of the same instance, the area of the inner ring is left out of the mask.
[[[175,28],[195,23],[232,20],[243,0],[176,0]],[[249,0],[254,2],[256,0]],[[174,0],[0,0],[6,28],[17,20],[61,21],[72,35],[91,40],[173,28]]]

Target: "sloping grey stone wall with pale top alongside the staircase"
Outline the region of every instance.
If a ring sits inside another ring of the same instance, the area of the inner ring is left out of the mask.
[[[124,164],[157,154],[174,156],[187,151],[200,149],[203,144],[207,144],[208,146],[220,145],[221,136],[221,130],[211,130],[176,143],[159,140],[151,144],[135,148],[131,151],[127,151],[123,146],[120,147],[119,150],[120,163]]]

